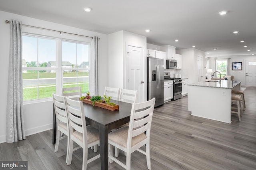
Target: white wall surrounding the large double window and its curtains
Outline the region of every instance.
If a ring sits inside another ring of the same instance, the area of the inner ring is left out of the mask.
[[[9,49],[10,49],[10,24],[6,24],[5,20],[20,20],[23,24],[48,28],[52,30],[60,30],[63,32],[70,32],[74,34],[81,34],[86,36],[99,36],[99,90],[103,93],[104,87],[108,82],[108,55],[107,55],[107,36],[88,30],[82,30],[70,26],[29,18],[21,15],[16,15],[8,12],[0,11],[0,51],[1,57],[1,107],[0,107],[0,143],[5,142],[6,136],[6,99],[7,99],[7,86],[8,86],[8,65],[9,65]],[[34,31],[35,29],[23,27],[23,32]],[[37,30],[34,33],[44,34],[45,30]],[[63,38],[70,39],[72,36],[69,34],[61,34],[59,32],[52,32],[50,36],[62,36]],[[81,37],[82,39],[82,37]],[[24,105],[24,123],[26,135],[34,134],[40,131],[52,128],[52,101],[45,101],[40,103],[32,103]]]

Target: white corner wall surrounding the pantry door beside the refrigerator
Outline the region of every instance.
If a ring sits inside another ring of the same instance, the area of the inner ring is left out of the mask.
[[[144,82],[146,77],[146,37],[127,31],[119,31],[108,34],[109,65],[108,85],[110,87],[126,88],[126,45],[143,48],[144,56]],[[143,100],[147,99],[147,86],[144,83]]]

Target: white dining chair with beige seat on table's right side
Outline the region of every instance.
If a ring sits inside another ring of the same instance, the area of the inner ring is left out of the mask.
[[[147,167],[151,169],[150,162],[150,129],[156,99],[142,103],[133,103],[129,126],[118,128],[108,134],[108,158],[126,170],[131,169],[131,154],[135,150],[146,155]],[[146,152],[140,147],[146,145]],[[126,152],[126,164],[113,156],[115,146]]]

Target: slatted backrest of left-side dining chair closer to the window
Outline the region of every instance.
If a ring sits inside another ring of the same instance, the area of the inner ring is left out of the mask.
[[[52,93],[52,97],[53,97],[57,126],[60,124],[60,121],[68,125],[68,115],[67,115],[65,97],[56,95],[54,93]]]

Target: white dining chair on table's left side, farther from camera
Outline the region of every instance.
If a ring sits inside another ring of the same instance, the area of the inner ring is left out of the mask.
[[[53,97],[54,110],[55,110],[55,116],[56,116],[56,132],[57,132],[54,152],[57,152],[60,140],[62,140],[63,138],[67,138],[68,140],[69,126],[68,126],[68,115],[67,115],[65,97],[56,95],[54,93],[52,93],[52,97]],[[60,133],[66,134],[66,136],[60,137]],[[68,146],[69,146],[69,140],[67,144],[66,163],[68,161]]]

